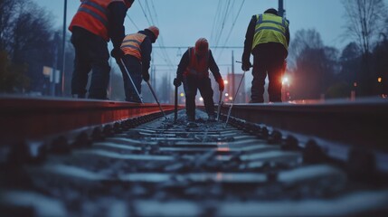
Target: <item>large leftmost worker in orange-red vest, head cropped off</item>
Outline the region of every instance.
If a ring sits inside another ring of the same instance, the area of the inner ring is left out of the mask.
[[[81,4],[71,20],[71,43],[75,50],[74,71],[71,78],[71,94],[76,98],[85,98],[88,74],[90,80],[90,99],[107,99],[109,84],[109,51],[121,58],[120,50],[125,36],[123,26],[128,8],[134,0],[80,0]]]

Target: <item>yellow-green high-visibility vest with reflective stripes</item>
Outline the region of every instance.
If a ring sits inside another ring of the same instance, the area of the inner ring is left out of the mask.
[[[279,42],[284,45],[286,50],[289,49],[286,39],[289,22],[286,19],[275,14],[257,14],[256,18],[257,23],[251,50],[258,44],[267,42]]]

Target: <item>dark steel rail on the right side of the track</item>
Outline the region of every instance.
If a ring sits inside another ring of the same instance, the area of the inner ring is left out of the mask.
[[[225,104],[223,112],[231,107]],[[388,100],[237,104],[232,116],[309,136],[388,151]]]

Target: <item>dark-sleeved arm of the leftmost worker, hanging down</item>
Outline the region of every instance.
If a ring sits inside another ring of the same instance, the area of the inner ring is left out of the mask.
[[[119,49],[125,37],[124,19],[128,8],[123,2],[112,2],[108,6],[109,15],[109,37],[112,40],[113,48]]]

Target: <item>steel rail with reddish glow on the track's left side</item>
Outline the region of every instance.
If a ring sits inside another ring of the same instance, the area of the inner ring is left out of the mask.
[[[154,103],[91,99],[3,96],[0,105],[0,145],[160,112]],[[173,105],[161,107],[174,110]]]

